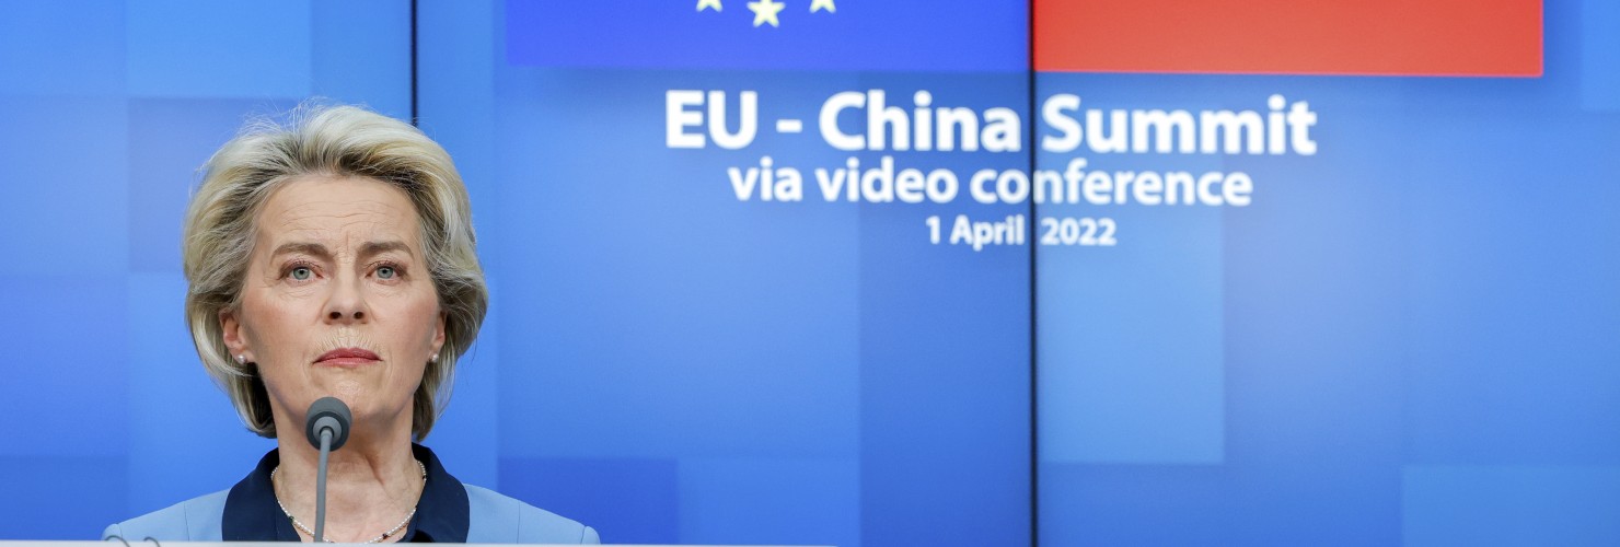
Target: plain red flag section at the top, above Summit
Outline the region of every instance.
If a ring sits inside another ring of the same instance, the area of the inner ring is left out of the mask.
[[[1035,0],[1035,70],[1541,76],[1541,0]]]

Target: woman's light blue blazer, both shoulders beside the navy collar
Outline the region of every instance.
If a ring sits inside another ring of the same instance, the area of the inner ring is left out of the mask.
[[[599,544],[596,529],[557,516],[494,490],[463,484],[468,502],[468,544]],[[190,498],[128,521],[107,526],[102,539],[112,536],[138,542],[157,541],[222,541],[220,523],[230,490]]]

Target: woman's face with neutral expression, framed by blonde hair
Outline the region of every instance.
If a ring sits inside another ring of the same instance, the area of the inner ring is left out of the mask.
[[[410,430],[411,396],[444,345],[410,197],[371,178],[303,176],[256,222],[241,306],[220,322],[232,353],[258,363],[277,430],[301,432],[327,395],[350,406],[356,432]]]

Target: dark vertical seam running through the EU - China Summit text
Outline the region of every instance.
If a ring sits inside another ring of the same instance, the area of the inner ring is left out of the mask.
[[[1035,154],[1040,151],[1035,146],[1035,0],[1025,3],[1029,8],[1029,176],[1034,183],[1035,180]],[[1040,343],[1038,330],[1035,329],[1035,306],[1038,299],[1035,298],[1035,251],[1040,248],[1040,240],[1035,238],[1040,233],[1040,218],[1035,217],[1035,193],[1029,196],[1029,544],[1030,547],[1040,547],[1040,429],[1035,422],[1040,419],[1040,408],[1037,406],[1037,398],[1040,396],[1038,385],[1038,366],[1037,366],[1037,343]]]

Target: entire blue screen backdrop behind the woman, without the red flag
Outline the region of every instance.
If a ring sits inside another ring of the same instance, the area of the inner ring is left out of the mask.
[[[0,5],[0,537],[274,447],[198,364],[180,222],[327,97],[473,199],[428,445],[604,541],[1620,542],[1620,8],[1435,78],[1042,68],[1059,5],[1129,8]]]

